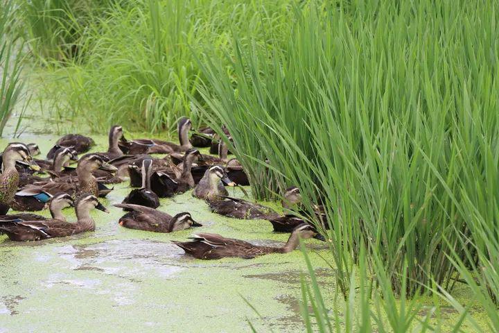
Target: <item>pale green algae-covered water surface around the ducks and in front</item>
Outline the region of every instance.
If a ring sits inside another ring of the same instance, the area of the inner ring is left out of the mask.
[[[58,135],[33,134],[43,130],[28,128],[16,140],[36,142],[45,154]],[[96,151],[105,151],[107,136],[93,137]],[[10,141],[0,139],[0,146]],[[0,236],[1,333],[248,332],[248,322],[261,332],[301,331],[297,299],[305,267],[298,250],[249,260],[202,261],[170,243],[192,232],[216,232],[277,245],[288,234],[273,233],[267,221],[213,214],[191,191],[161,199],[159,210],[191,212],[202,228],[171,234],[129,230],[118,224],[123,212],[112,207],[129,191],[124,182],[101,199],[110,214],[92,213],[95,232],[22,244]],[[242,196],[234,191],[231,195]],[[66,212],[74,221],[74,213]],[[312,239],[307,244],[327,255],[324,243]],[[322,259],[313,254],[312,259],[319,278],[329,278],[331,270]]]

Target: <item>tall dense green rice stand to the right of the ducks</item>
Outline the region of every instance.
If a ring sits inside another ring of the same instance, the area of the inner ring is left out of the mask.
[[[311,219],[325,205],[345,298],[362,243],[371,273],[378,258],[414,296],[451,289],[448,253],[476,252],[461,234],[488,242],[469,212],[494,230],[499,31],[497,4],[478,2],[313,4],[279,47],[200,57],[206,115],[229,129],[254,195],[299,185]]]

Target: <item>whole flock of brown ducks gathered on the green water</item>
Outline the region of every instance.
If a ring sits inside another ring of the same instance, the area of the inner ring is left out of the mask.
[[[8,144],[1,155],[0,234],[12,241],[40,241],[94,231],[90,211],[96,208],[107,212],[98,198],[112,191],[110,185],[129,180],[134,189],[121,204],[114,205],[126,212],[118,221],[124,228],[175,232],[202,227],[189,212],[171,216],[157,210],[159,198],[193,189],[193,196],[205,200],[213,212],[235,219],[266,219],[274,231],[291,233],[282,247],[256,246],[202,232],[193,234],[189,241],[173,241],[198,259],[248,259],[288,253],[297,248],[299,238],[324,241],[313,225],[299,217],[301,196],[297,187],[283,194],[282,204],[288,212],[283,216],[269,207],[228,196],[226,186],[249,185],[238,161],[227,159],[229,133],[225,131],[226,137],[220,138],[211,128],[202,128],[189,139],[191,127],[189,119],[180,119],[180,144],[175,144],[157,139],[125,139],[123,128],[112,126],[109,148],[97,153],[88,153],[95,145],[90,137],[64,135],[47,153],[46,160],[33,158],[41,153],[37,144]],[[210,153],[218,156],[201,154],[194,147],[210,147]],[[67,207],[74,207],[76,221],[67,221],[62,212]],[[46,208],[51,218],[32,213]],[[7,214],[10,209],[18,213]],[[293,214],[295,211],[297,214]]]

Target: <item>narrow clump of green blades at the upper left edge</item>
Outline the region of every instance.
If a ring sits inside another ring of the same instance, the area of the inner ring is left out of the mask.
[[[0,1],[0,136],[23,91],[22,45],[9,31],[15,15],[13,1]],[[21,119],[21,117],[19,117]]]

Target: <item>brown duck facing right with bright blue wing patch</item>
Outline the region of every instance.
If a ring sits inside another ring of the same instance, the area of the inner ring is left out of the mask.
[[[43,210],[52,196],[60,193],[80,195],[82,193],[94,196],[105,196],[112,189],[107,189],[95,178],[93,171],[96,169],[116,171],[116,168],[107,164],[100,155],[87,153],[78,160],[76,167],[77,177],[65,176],[44,182],[26,185],[15,193],[12,208],[18,211]]]

